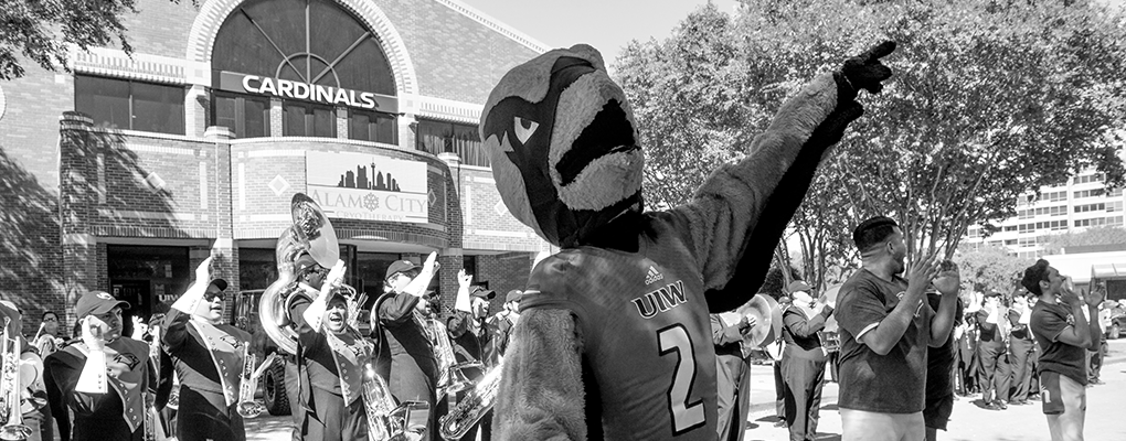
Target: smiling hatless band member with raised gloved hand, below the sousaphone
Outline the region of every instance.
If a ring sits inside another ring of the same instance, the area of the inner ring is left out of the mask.
[[[365,364],[373,344],[348,323],[348,299],[338,288],[343,266],[338,264],[315,299],[297,296],[289,317],[300,335],[302,377],[301,438],[313,441],[366,440],[363,397]],[[296,406],[295,406],[296,407]]]

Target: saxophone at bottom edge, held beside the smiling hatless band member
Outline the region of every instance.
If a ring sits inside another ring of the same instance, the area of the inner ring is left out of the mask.
[[[420,402],[406,402],[395,405],[387,382],[375,374],[372,364],[364,367],[364,413],[367,417],[368,441],[400,441],[406,439],[406,426],[412,411],[428,410],[429,405]]]

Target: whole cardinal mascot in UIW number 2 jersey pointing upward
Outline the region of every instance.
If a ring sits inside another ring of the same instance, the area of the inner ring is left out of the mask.
[[[685,205],[643,212],[625,93],[587,45],[516,66],[482,112],[501,198],[562,251],[533,270],[504,357],[501,440],[714,440],[708,312],[756,292],[817,164],[891,70],[877,46],[815,78],[748,156]]]

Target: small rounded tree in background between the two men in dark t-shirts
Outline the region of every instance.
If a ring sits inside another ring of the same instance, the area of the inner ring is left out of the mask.
[[[956,258],[963,284],[976,291],[994,290],[1008,296],[1020,282],[1033,259],[1011,255],[1003,246],[984,246],[980,250],[963,248]]]

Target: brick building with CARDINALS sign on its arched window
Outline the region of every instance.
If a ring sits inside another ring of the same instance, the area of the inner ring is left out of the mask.
[[[372,299],[431,251],[450,305],[462,268],[524,286],[548,248],[500,201],[477,123],[542,44],[457,0],[199,3],[138,1],[132,56],[0,83],[0,294],[28,332],[91,289],[148,315],[208,254],[229,292],[266,288],[295,192]]]

